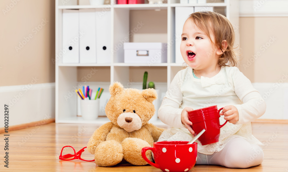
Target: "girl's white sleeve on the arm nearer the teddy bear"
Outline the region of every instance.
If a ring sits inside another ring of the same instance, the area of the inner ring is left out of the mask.
[[[179,109],[182,103],[183,93],[180,90],[181,71],[172,80],[162,104],[158,110],[158,117],[164,123],[172,127],[185,128],[181,122],[181,112]]]

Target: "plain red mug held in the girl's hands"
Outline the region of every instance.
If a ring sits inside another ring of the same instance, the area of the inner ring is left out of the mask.
[[[219,113],[222,109],[223,107],[217,110],[217,105],[215,105],[187,112],[188,118],[192,122],[192,129],[194,130],[195,134],[198,134],[203,129],[206,130],[198,138],[202,145],[216,143],[219,141],[220,128],[228,122],[226,120],[224,124],[219,124]]]

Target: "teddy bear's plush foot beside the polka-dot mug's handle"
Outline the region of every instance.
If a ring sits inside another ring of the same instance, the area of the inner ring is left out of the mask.
[[[151,146],[140,138],[125,138],[122,142],[124,159],[133,165],[147,165],[148,163],[141,155],[141,150],[144,147]],[[151,150],[146,151],[146,157],[152,161]]]

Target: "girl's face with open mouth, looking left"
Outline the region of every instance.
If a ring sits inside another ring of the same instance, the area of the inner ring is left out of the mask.
[[[211,31],[210,33],[211,39],[215,40]],[[192,23],[191,19],[185,21],[181,39],[181,55],[191,68],[205,70],[217,66],[219,59],[219,55],[216,54],[217,49],[213,47],[209,37]]]

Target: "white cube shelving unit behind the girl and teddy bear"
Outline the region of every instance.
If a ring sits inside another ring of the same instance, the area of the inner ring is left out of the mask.
[[[62,48],[62,11],[63,9],[98,9],[103,11],[111,11],[111,49],[114,45],[121,44],[119,40],[123,40],[127,37],[129,33],[129,15],[130,10],[166,10],[167,11],[167,40],[168,40],[168,50],[167,50],[167,63],[160,64],[128,64],[124,63],[124,49],[123,46],[120,47],[118,51],[111,51],[111,63],[96,63],[96,64],[63,64],[62,58],[56,58],[56,112],[55,118],[56,123],[82,123],[82,124],[104,124],[109,120],[105,117],[99,117],[97,120],[83,120],[81,117],[77,116],[77,95],[69,95],[69,92],[73,93],[73,90],[78,85],[95,85],[101,86],[109,94],[109,85],[114,81],[122,83],[124,86],[129,86],[129,67],[166,67],[167,70],[167,89],[170,82],[180,70],[181,64],[175,63],[175,7],[179,6],[213,6],[214,9],[221,9],[224,15],[231,21],[233,26],[235,26],[236,32],[236,42],[239,42],[239,1],[238,0],[225,0],[221,3],[204,3],[204,4],[180,4],[177,0],[168,0],[168,3],[164,4],[116,4],[115,1],[111,0],[110,5],[58,5],[60,0],[56,1],[56,15],[55,15],[55,46],[56,55],[61,53]],[[220,0],[221,1],[221,0]],[[178,3],[174,3],[178,2]],[[149,11],[147,11],[149,12]],[[222,13],[222,14],[223,14]],[[157,16],[155,16],[157,17]],[[129,38],[129,36],[128,36]],[[174,39],[174,41],[173,41]],[[129,41],[128,41],[129,42]],[[95,83],[83,83],[79,82],[77,79],[77,71],[79,67],[95,67],[99,68],[99,72],[103,68],[110,70],[110,79],[108,81],[99,81]],[[143,77],[143,76],[139,76]],[[110,81],[109,81],[110,80]],[[166,90],[164,90],[166,91]],[[75,91],[74,91],[75,93]],[[105,93],[105,92],[103,92]],[[68,97],[68,98],[67,98]],[[105,103],[105,102],[104,102]],[[103,111],[103,109],[102,109]],[[105,113],[105,112],[104,112]],[[160,121],[153,122],[158,126],[165,125]]]

